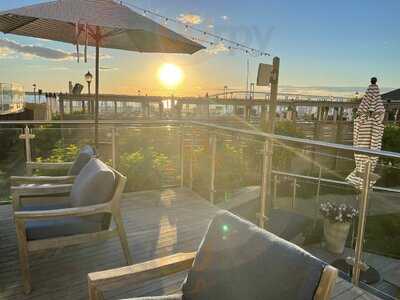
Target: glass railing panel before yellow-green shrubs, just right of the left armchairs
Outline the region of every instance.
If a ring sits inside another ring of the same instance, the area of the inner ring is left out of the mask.
[[[120,127],[117,132],[117,168],[128,177],[127,191],[155,190],[178,185],[179,127]]]

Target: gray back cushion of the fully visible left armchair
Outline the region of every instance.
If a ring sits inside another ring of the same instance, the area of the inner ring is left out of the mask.
[[[71,206],[90,206],[111,200],[115,174],[102,161],[92,158],[82,169],[71,190]]]

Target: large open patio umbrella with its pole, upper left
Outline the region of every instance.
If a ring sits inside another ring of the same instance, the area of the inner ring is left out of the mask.
[[[58,0],[0,12],[0,31],[96,47],[95,141],[98,142],[99,49],[193,54],[204,47],[113,0]]]

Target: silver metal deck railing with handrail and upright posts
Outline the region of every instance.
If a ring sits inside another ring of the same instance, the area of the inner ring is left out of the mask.
[[[93,121],[4,121],[0,122],[1,125],[8,126],[23,126],[24,134],[20,136],[21,139],[25,141],[25,153],[27,162],[32,161],[32,150],[31,150],[31,140],[34,138],[32,134],[31,127],[32,126],[40,126],[40,125],[88,125],[92,126],[94,124]],[[207,130],[210,133],[210,182],[209,182],[209,199],[211,203],[215,202],[215,193],[216,193],[216,155],[217,155],[217,143],[218,134],[221,133],[230,133],[235,135],[242,135],[250,138],[257,139],[263,146],[263,162],[262,162],[262,176],[261,176],[261,188],[260,188],[260,211],[258,212],[258,219],[260,227],[268,228],[268,209],[274,198],[276,197],[276,181],[278,177],[288,177],[294,181],[293,184],[293,202],[296,201],[297,194],[297,180],[307,180],[310,182],[317,183],[317,193],[316,193],[316,201],[319,202],[321,183],[329,183],[339,186],[351,186],[349,183],[340,180],[327,179],[322,178],[322,168],[319,168],[319,176],[307,176],[302,174],[296,174],[291,172],[282,172],[278,170],[272,170],[272,155],[273,146],[275,143],[291,143],[291,144],[299,144],[308,147],[321,147],[324,149],[350,152],[352,154],[363,154],[367,157],[382,157],[382,158],[390,158],[390,159],[400,159],[400,153],[395,152],[387,152],[387,151],[378,151],[371,149],[363,149],[357,148],[349,145],[339,145],[334,143],[322,142],[322,141],[314,141],[307,140],[301,138],[294,138],[289,136],[282,135],[274,135],[267,134],[260,131],[255,130],[244,130],[231,128],[226,126],[219,126],[213,124],[206,124],[202,122],[195,121],[140,121],[140,122],[130,122],[130,121],[101,121],[100,126],[111,128],[111,161],[113,167],[117,167],[118,153],[117,153],[117,135],[118,128],[132,128],[132,129],[140,129],[140,128],[161,128],[161,127],[175,127],[179,129],[179,186],[184,186],[184,173],[185,173],[185,160],[184,160],[184,152],[185,152],[185,133],[188,128],[200,128]],[[193,139],[190,145],[190,153],[189,153],[189,187],[193,188]],[[32,170],[27,170],[31,173]],[[363,190],[360,197],[360,215],[357,229],[357,240],[355,247],[355,264],[353,268],[353,278],[352,282],[355,285],[359,285],[359,276],[361,271],[361,257],[363,253],[363,241],[365,234],[365,224],[367,218],[367,207],[368,207],[368,194],[370,191],[369,182],[371,179],[371,163],[367,163],[367,167],[365,168],[365,172],[363,174],[364,177],[364,185]],[[374,190],[376,191],[385,191],[385,192],[395,192],[400,193],[398,189],[385,188],[374,186]]]

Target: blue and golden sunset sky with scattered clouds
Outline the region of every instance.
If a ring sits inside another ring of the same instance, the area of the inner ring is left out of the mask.
[[[39,2],[45,1],[0,0],[0,10]],[[279,56],[283,91],[350,95],[363,91],[371,76],[377,76],[382,87],[400,87],[398,0],[123,2],[180,18]],[[185,33],[183,27],[167,26]],[[58,56],[48,55],[48,48],[57,50]],[[224,50],[192,56],[102,50],[101,91],[204,95],[222,90],[224,85],[245,89],[247,59],[251,82],[258,63],[272,60]],[[65,91],[69,80],[83,83],[83,75],[94,72],[93,59],[78,64],[71,57],[74,51],[68,44],[0,34],[0,82],[18,82],[27,90],[36,83],[43,90]],[[90,52],[93,55],[93,49]],[[174,90],[158,79],[158,70],[165,63],[179,66],[184,74]]]

